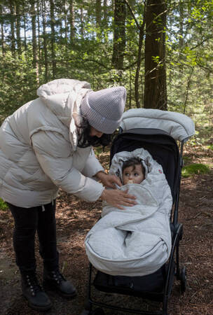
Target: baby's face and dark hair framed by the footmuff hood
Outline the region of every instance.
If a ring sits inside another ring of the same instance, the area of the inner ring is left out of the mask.
[[[142,183],[145,179],[145,169],[139,158],[130,158],[123,162],[123,185],[127,183]]]

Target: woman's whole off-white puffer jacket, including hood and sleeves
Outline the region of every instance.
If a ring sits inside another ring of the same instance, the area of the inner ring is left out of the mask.
[[[91,147],[78,148],[76,125],[85,81],[41,85],[38,99],[20,107],[0,128],[0,197],[18,207],[48,204],[58,188],[93,202],[104,190],[92,176],[103,168]]]

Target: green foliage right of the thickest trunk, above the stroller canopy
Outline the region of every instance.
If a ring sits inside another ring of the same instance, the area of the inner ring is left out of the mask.
[[[212,125],[212,1],[171,1],[167,17],[169,109]],[[175,27],[179,25],[179,27]]]

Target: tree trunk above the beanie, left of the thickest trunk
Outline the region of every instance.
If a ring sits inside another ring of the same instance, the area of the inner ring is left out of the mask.
[[[114,45],[111,63],[115,69],[123,69],[125,52],[125,2],[115,0],[114,8]]]

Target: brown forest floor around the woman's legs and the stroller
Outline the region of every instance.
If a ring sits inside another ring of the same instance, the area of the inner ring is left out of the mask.
[[[212,164],[213,152],[202,146],[186,146],[186,161]],[[109,165],[109,153],[101,153],[99,160],[104,167]],[[180,243],[180,262],[187,269],[187,287],[180,293],[179,281],[174,280],[168,303],[170,315],[213,314],[213,169],[208,174],[196,174],[181,181],[179,222],[184,225],[184,237]],[[71,279],[78,290],[74,300],[63,300],[48,292],[53,307],[47,314],[80,315],[83,310],[88,285],[88,259],[85,255],[86,233],[98,220],[101,202],[88,203],[76,197],[60,193],[57,199],[57,242],[60,251],[60,266],[64,276]],[[29,309],[22,297],[20,276],[13,253],[13,218],[9,211],[0,211],[0,314],[40,314]],[[36,244],[39,279],[42,276],[42,261]],[[102,302],[120,306],[151,310],[158,303],[142,302],[139,298],[124,295],[103,294],[95,290]],[[161,305],[160,305],[161,306]],[[105,314],[125,314],[104,309]]]

